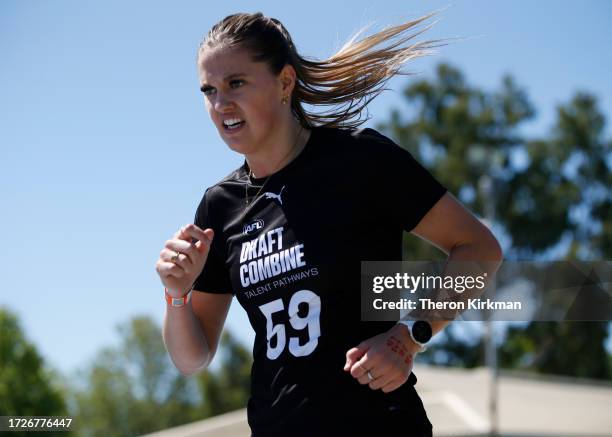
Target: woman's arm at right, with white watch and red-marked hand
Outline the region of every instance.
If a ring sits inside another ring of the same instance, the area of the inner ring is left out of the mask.
[[[491,231],[466,209],[450,192],[425,214],[412,234],[428,241],[448,255],[451,261],[486,261],[482,265],[488,277],[499,268],[503,258],[501,247]],[[435,335],[450,323],[431,321]],[[405,325],[397,324],[389,331],[361,342],[346,353],[345,371],[361,384],[387,393],[404,384],[412,371],[414,343]],[[374,378],[370,379],[368,373]]]

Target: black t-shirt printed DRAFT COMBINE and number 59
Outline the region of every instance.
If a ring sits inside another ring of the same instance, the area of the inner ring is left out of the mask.
[[[377,131],[324,127],[256,196],[264,181],[245,162],[206,190],[195,216],[215,237],[194,290],[233,293],[255,330],[253,435],[364,431],[364,418],[379,435],[399,424],[422,435],[414,374],[385,394],[343,367],[350,348],[394,324],[360,321],[361,261],[401,260],[402,232],[446,188]]]

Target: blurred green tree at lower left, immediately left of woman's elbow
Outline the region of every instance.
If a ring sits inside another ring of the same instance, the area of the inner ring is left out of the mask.
[[[132,436],[200,419],[192,378],[172,364],[148,317],[118,327],[120,344],[101,350],[75,388],[79,435]]]

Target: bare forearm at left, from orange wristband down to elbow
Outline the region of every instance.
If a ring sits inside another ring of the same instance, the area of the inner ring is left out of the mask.
[[[210,348],[191,302],[182,307],[166,306],[163,338],[174,365],[184,375],[208,367]]]

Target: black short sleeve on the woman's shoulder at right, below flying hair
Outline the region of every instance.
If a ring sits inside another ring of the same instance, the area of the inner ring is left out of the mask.
[[[410,152],[374,129],[363,129],[359,137],[367,141],[370,195],[384,215],[398,221],[410,232],[447,189]]]

